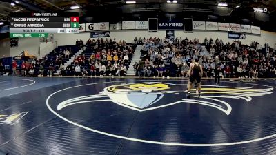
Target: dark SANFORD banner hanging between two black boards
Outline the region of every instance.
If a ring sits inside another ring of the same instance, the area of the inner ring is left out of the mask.
[[[184,21],[158,21],[158,29],[184,30]]]

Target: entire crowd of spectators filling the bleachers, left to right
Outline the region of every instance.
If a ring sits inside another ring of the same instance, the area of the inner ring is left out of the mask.
[[[239,79],[256,79],[258,77],[276,76],[275,50],[265,43],[250,45],[234,40],[224,43],[221,39],[137,39],[134,44],[127,45],[125,41],[116,39],[88,39],[86,44],[80,39],[76,41],[79,49],[90,50],[91,54],[75,56],[72,64],[65,66],[64,60],[72,57],[71,48],[54,50],[51,57],[23,61],[20,66],[12,62],[12,74],[52,76],[60,70],[60,76],[125,76],[129,68],[136,45],[142,45],[142,61],[135,63],[137,76],[149,77],[187,77],[189,65],[193,59],[199,59],[204,68],[204,77],[213,77],[215,56],[219,57],[221,65],[219,73],[222,77],[237,77]],[[0,63],[0,74],[3,72]]]

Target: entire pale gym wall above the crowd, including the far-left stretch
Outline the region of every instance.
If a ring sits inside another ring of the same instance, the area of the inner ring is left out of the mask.
[[[116,38],[117,41],[125,40],[126,43],[132,43],[135,37],[159,37],[163,39],[166,36],[165,30],[159,30],[155,33],[149,33],[148,30],[117,30],[111,31],[111,38]],[[234,39],[228,39],[227,32],[219,32],[219,31],[206,31],[206,30],[194,30],[193,33],[185,33],[181,30],[175,30],[175,37],[182,37],[188,39],[199,38],[202,42],[205,37],[208,39],[212,38],[213,40],[219,38],[226,42],[233,42]],[[90,38],[90,32],[79,33],[79,34],[54,34],[54,39],[57,41],[57,45],[75,45],[75,41],[77,39],[82,39],[86,42]],[[261,31],[261,35],[255,34],[246,34],[246,39],[241,40],[244,44],[250,44],[252,41],[258,41],[264,46],[264,43],[269,43],[272,48],[275,48],[276,44],[276,33],[274,32],[266,32]],[[39,56],[45,56],[48,52],[50,52],[55,45],[50,45],[50,43],[46,45],[41,44],[41,53],[39,54],[39,38],[19,38],[18,47],[10,48],[9,39],[2,40],[0,42],[0,56],[17,56],[19,53],[23,52],[23,50],[27,50],[29,54],[33,54]]]

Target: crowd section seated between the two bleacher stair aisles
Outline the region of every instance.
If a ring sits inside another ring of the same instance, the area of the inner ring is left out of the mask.
[[[61,68],[61,74],[75,76],[125,76],[135,45],[116,39],[88,39],[86,45],[80,39],[76,45],[92,51],[90,56],[75,56],[74,63]]]

